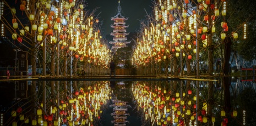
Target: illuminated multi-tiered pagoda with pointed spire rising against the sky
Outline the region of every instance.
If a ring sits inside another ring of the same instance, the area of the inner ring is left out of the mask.
[[[126,33],[126,28],[128,27],[128,25],[126,25],[125,22],[128,18],[125,18],[121,14],[120,1],[118,1],[117,10],[117,15],[111,18],[111,20],[114,21],[114,24],[111,25],[114,30],[110,34],[111,36],[114,36],[113,41],[110,42],[110,44],[113,44],[112,51],[116,51],[118,48],[127,47],[126,44],[130,43],[130,41],[127,41],[126,37],[129,35],[129,33]]]

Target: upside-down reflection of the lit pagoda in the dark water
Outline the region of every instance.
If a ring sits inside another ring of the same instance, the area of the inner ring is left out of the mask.
[[[120,101],[115,98],[112,102],[113,104],[110,105],[110,107],[113,107],[114,110],[114,112],[111,113],[111,116],[114,117],[114,121],[111,121],[111,123],[114,123],[116,126],[124,126],[126,123],[129,123],[126,119],[127,115],[130,115],[127,113],[127,107],[130,107],[130,105],[127,105],[126,101]]]

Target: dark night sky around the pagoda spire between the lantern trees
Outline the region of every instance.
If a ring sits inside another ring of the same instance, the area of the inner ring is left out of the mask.
[[[110,34],[113,28],[111,16],[117,14],[118,0],[86,0],[86,10],[90,12],[98,8],[95,15],[99,14],[99,21],[103,21],[101,31],[104,36]],[[127,32],[134,32],[139,29],[141,19],[145,19],[146,13],[152,12],[151,0],[120,0],[121,13],[123,16],[128,17],[126,24],[129,25]]]

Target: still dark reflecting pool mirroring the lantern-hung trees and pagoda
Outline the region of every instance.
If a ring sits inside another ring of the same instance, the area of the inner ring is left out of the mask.
[[[207,78],[0,82],[1,125],[255,125],[254,78],[214,78],[213,90],[208,83]]]

